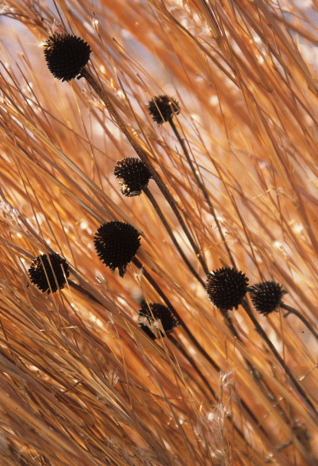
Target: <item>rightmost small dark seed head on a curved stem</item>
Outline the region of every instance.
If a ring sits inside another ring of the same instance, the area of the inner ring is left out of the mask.
[[[283,304],[283,295],[288,291],[275,281],[261,281],[250,288],[249,295],[257,312],[268,315]]]

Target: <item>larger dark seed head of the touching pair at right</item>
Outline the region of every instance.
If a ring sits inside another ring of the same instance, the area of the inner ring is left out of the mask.
[[[243,302],[249,279],[234,267],[222,267],[207,274],[207,295],[222,311],[237,309]]]

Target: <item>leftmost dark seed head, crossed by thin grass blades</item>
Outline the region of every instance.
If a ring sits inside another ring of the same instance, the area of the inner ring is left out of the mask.
[[[48,290],[49,295],[50,287],[53,293],[57,291],[57,285],[59,288],[64,288],[65,276],[69,277],[69,264],[57,253],[48,255],[51,264],[49,263],[48,256],[46,254],[41,254],[41,256],[37,256],[34,260],[32,260],[31,267],[28,269],[28,274],[31,282],[36,285],[43,293]],[[63,267],[65,276],[63,274],[61,265]],[[54,270],[55,277],[52,269]],[[48,280],[45,272],[48,276]]]

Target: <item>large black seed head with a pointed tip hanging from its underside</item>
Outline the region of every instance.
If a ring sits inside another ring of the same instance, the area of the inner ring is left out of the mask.
[[[127,264],[140,247],[139,233],[125,222],[107,222],[97,228],[94,236],[97,255],[114,272],[118,268],[121,277]]]

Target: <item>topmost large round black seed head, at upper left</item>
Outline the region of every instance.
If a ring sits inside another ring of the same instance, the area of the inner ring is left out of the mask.
[[[90,59],[89,44],[76,35],[50,35],[44,47],[48,69],[62,81],[76,78]]]

